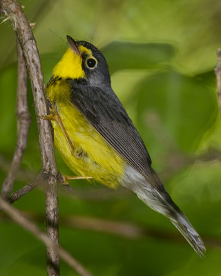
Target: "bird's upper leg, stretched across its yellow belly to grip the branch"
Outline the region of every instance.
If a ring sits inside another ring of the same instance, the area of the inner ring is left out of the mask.
[[[64,127],[64,124],[62,123],[61,121],[61,118],[59,117],[59,114],[57,113],[57,110],[55,108],[55,104],[53,103],[53,101],[47,97],[47,100],[50,102],[50,115],[47,115],[47,116],[39,116],[39,118],[41,119],[44,119],[44,120],[51,120],[51,121],[57,121],[57,124],[59,124],[59,127],[61,128],[63,134],[64,134],[64,137],[66,138],[66,141],[68,143],[68,146],[70,148],[70,152],[72,153],[72,155],[77,158],[77,159],[80,159],[81,158],[81,155],[82,155],[82,152],[80,153],[77,153],[75,151],[75,147],[73,146],[73,143],[72,141],[70,141],[70,137],[66,131],[66,128]]]

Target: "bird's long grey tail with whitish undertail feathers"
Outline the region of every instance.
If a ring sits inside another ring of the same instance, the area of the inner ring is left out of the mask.
[[[155,174],[154,171],[153,173]],[[158,183],[156,183],[156,180]],[[186,241],[193,247],[195,252],[200,257],[203,257],[206,248],[200,235],[193,228],[189,219],[187,219],[180,208],[173,202],[157,175],[154,175],[154,182],[154,185],[150,184],[146,178],[130,166],[126,170],[126,177],[124,177],[122,185],[133,190],[137,194],[137,197],[153,210],[168,217]]]

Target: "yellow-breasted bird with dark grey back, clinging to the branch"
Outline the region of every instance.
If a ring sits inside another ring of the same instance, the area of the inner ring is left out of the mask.
[[[202,239],[164,189],[151,157],[111,88],[104,56],[86,41],[67,36],[69,48],[47,85],[55,146],[71,170],[116,188],[122,185],[165,215],[198,255]]]

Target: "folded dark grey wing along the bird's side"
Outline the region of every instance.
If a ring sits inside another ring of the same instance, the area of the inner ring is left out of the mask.
[[[104,91],[75,81],[70,81],[70,87],[73,106],[128,164],[149,179],[151,157],[113,90]]]

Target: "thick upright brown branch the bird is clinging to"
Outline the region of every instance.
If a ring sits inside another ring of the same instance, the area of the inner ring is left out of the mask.
[[[29,72],[32,92],[37,115],[47,115],[46,92],[44,77],[41,70],[37,43],[32,34],[29,22],[23,14],[22,8],[15,0],[1,0],[0,8],[6,17],[12,21],[17,37],[23,49],[26,65]],[[37,117],[39,129],[39,144],[41,150],[41,175],[46,185],[46,232],[55,244],[59,242],[58,233],[58,200],[57,200],[57,166],[53,149],[52,129],[49,121]],[[48,222],[50,221],[50,223]],[[49,227],[53,225],[54,227]],[[54,247],[47,248],[48,275],[59,276],[59,255]]]

